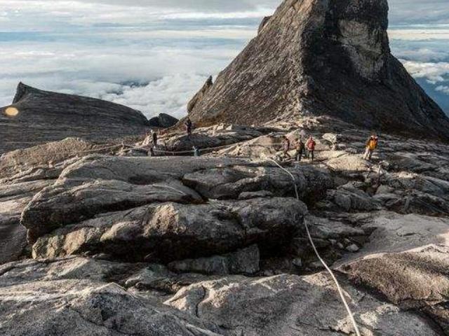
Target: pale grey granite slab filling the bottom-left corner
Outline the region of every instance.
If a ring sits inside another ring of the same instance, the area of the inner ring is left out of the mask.
[[[222,335],[211,323],[111,282],[112,274],[126,277],[135,269],[134,265],[86,258],[0,266],[0,334]]]

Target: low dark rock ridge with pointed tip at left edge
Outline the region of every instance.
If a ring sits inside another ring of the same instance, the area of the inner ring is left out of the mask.
[[[0,108],[0,154],[67,137],[101,140],[140,134],[147,126],[142,113],[126,106],[20,83],[13,104]]]

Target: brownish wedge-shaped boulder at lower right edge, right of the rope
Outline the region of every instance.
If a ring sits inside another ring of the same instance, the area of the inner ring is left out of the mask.
[[[342,266],[357,285],[367,286],[402,309],[424,311],[449,332],[449,248],[429,245],[402,253],[370,255]]]

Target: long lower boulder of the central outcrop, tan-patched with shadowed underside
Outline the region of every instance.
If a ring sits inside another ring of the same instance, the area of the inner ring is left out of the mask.
[[[152,204],[54,230],[37,239],[33,255],[107,253],[121,260],[167,263],[229,253],[251,244],[269,253],[288,247],[306,213],[305,205],[293,198]],[[227,265],[230,271],[242,269],[238,255],[228,259],[232,259]]]

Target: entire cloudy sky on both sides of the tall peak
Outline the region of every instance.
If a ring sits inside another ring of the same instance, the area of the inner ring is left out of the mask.
[[[449,111],[449,0],[390,0],[394,54]],[[147,116],[185,105],[274,0],[0,0],[0,106],[22,80]]]

